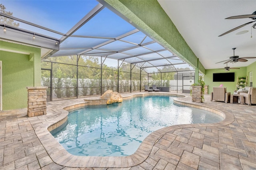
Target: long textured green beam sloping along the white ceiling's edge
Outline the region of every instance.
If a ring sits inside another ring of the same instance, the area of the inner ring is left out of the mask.
[[[181,59],[205,74],[203,65],[178,32],[157,0],[104,0],[132,21],[139,30],[169,48]],[[200,65],[199,65],[200,63]]]

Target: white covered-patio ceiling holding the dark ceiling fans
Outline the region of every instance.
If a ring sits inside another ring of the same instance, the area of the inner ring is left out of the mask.
[[[219,35],[242,24],[253,21],[250,18],[225,20],[230,16],[252,14],[256,11],[256,0],[158,0],[184,40],[199,58],[205,69],[224,68],[218,63],[235,55],[256,57],[256,29],[248,24],[234,32]],[[246,34],[236,33],[248,30]],[[256,59],[246,62],[228,63],[228,67],[246,67]]]

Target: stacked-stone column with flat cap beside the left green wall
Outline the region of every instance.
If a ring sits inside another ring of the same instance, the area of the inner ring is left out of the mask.
[[[27,87],[28,117],[46,115],[46,89],[48,87]]]

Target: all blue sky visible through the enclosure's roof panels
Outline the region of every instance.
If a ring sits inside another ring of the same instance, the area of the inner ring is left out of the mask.
[[[33,24],[37,24],[39,26],[49,28],[51,30],[55,30],[57,32],[61,32],[62,34],[66,34],[82,18],[84,18],[86,14],[88,14],[88,12],[90,12],[95,6],[99,4],[99,2],[96,0],[1,0],[0,3],[6,7],[6,11],[12,12],[12,15],[14,17],[25,20],[27,22],[31,22]],[[62,38],[62,35],[60,34],[49,32],[47,30],[37,28],[29,24],[24,24],[22,22],[18,23],[20,23],[19,28],[22,28],[24,30],[43,34],[54,39]],[[116,15],[108,8],[104,8],[73,34],[76,36],[104,37],[104,39],[69,37],[60,44],[61,50],[56,53],[56,56],[58,56],[58,53],[60,53],[60,55],[73,55],[72,53],[74,53],[74,51],[76,51],[76,53],[82,52],[87,48],[92,48],[100,43],[110,40],[111,38],[116,38],[135,29],[136,28],[132,26],[129,22],[126,22],[126,20],[122,19],[120,16]],[[128,37],[122,38],[122,40],[139,44],[142,42],[142,40],[144,40],[145,36],[146,35],[142,32],[137,32]],[[147,37],[143,43],[151,41],[153,40]],[[102,48],[112,51],[119,51],[122,49],[127,49],[128,47],[130,47],[129,45],[131,47],[134,46],[129,43],[125,44],[118,41],[113,44],[110,43],[104,45],[102,46]],[[164,47],[156,43],[146,46],[153,51],[164,49]],[[150,52],[150,50],[146,48],[138,47],[136,49],[125,51],[125,53],[130,55],[138,55],[142,51]],[[168,57],[168,55],[172,56],[172,53],[170,51],[166,52],[168,52],[168,54],[167,56],[163,55],[164,57]],[[150,58],[150,56],[145,57],[148,59]],[[152,59],[155,58],[156,57],[154,56],[152,57]],[[105,62],[110,65],[111,63],[113,63],[108,60],[106,60]],[[157,61],[151,62],[156,63]],[[176,62],[177,61],[175,61],[174,63]],[[168,61],[165,61],[165,63],[168,63]]]

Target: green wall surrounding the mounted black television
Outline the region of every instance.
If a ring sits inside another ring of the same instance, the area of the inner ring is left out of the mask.
[[[235,73],[234,82],[213,82],[212,77],[213,73],[227,73],[224,69],[206,69],[206,74],[204,75],[205,85],[208,85],[208,94],[212,92],[212,87],[218,87],[220,84],[223,84],[223,87],[227,87],[227,92],[231,94],[234,93],[236,89],[236,79],[237,77],[246,77],[246,67],[240,67],[240,69],[230,69],[229,73]]]

